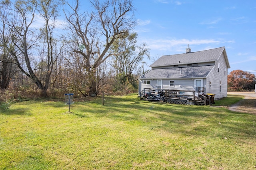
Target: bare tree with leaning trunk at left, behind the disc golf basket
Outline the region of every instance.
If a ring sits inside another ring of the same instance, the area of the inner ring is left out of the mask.
[[[47,96],[53,66],[61,51],[61,47],[59,47],[60,50],[56,53],[58,41],[54,39],[57,9],[61,4],[62,0],[17,0],[14,4],[17,21],[12,23],[14,28],[12,38],[17,41],[14,42],[10,51],[20,70],[34,81],[44,96]],[[36,23],[36,16],[44,22],[40,30],[33,25]],[[41,53],[36,53],[38,47],[43,48]],[[40,56],[40,62],[44,63],[40,66],[45,67],[42,79],[38,75],[38,66],[36,65]],[[22,64],[23,61],[25,64]]]

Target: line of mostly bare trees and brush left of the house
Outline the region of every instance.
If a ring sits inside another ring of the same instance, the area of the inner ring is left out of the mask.
[[[138,44],[132,0],[2,0],[0,87],[29,86],[47,96],[134,90],[150,57]],[[60,20],[64,16],[64,20]]]

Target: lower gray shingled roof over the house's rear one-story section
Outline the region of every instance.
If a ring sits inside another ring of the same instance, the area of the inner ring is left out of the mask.
[[[152,69],[140,76],[140,79],[176,79],[176,78],[206,78],[214,65],[184,68]],[[181,73],[180,73],[180,69]]]

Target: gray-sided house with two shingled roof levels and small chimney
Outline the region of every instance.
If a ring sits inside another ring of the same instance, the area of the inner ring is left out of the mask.
[[[164,55],[150,65],[152,70],[139,78],[139,93],[144,88],[166,90],[203,90],[215,94],[214,99],[227,96],[228,56],[225,47],[177,55]]]

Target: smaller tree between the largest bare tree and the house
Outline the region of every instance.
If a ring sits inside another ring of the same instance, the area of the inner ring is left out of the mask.
[[[146,48],[146,43],[137,45],[137,36],[137,33],[128,33],[126,37],[117,39],[110,48],[114,54],[110,64],[124,88],[127,84],[133,84],[141,75],[140,64],[144,56],[150,59],[150,49]]]

